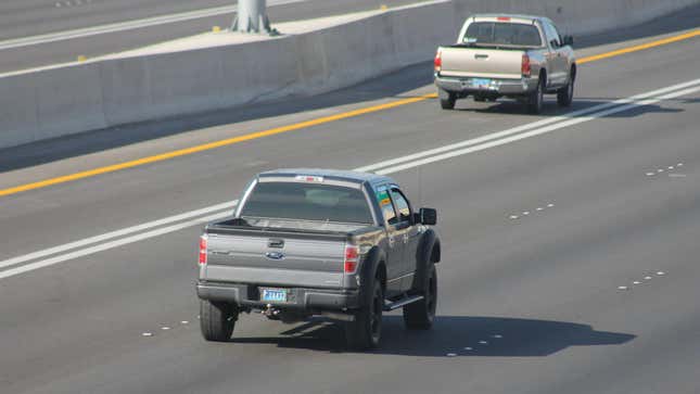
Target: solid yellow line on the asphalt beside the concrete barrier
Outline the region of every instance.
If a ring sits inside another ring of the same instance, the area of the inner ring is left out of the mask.
[[[595,61],[598,61],[598,60],[601,60],[601,59],[608,59],[608,58],[619,56],[621,54],[625,54],[625,53],[629,53],[629,52],[641,51],[641,50],[645,50],[645,49],[649,49],[649,48],[653,48],[653,47],[667,45],[667,43],[671,43],[671,42],[685,40],[685,39],[692,38],[692,37],[696,37],[696,36],[700,36],[700,29],[692,30],[692,31],[689,31],[689,33],[686,33],[686,34],[683,34],[683,35],[674,36],[674,37],[664,38],[664,39],[661,39],[661,40],[658,40],[658,41],[647,42],[647,43],[642,43],[642,45],[638,45],[638,46],[634,46],[634,47],[619,49],[619,50],[611,51],[611,52],[606,52],[606,53],[600,53],[600,54],[596,54],[596,55],[591,55],[591,56],[582,58],[582,59],[578,59],[576,61],[576,63],[583,64],[583,63],[588,63],[588,62],[595,62]],[[215,149],[215,148],[232,145],[232,144],[236,144],[236,143],[250,141],[250,140],[255,140],[255,139],[263,138],[263,137],[269,137],[269,136],[275,136],[275,135],[279,135],[279,134],[283,134],[283,132],[298,130],[301,128],[318,126],[318,125],[322,125],[322,124],[327,124],[327,123],[331,123],[331,122],[335,122],[335,120],[341,120],[341,119],[346,119],[346,118],[349,118],[349,117],[355,117],[355,116],[369,114],[369,113],[372,113],[372,112],[379,112],[379,111],[383,111],[383,110],[393,109],[393,107],[396,107],[396,106],[411,104],[411,103],[416,103],[416,102],[428,100],[428,99],[434,99],[436,97],[437,97],[437,94],[431,93],[431,94],[419,96],[419,97],[415,97],[415,98],[410,98],[410,99],[397,100],[397,101],[393,101],[391,103],[368,106],[368,107],[359,109],[359,110],[353,110],[353,111],[344,112],[344,113],[336,114],[336,115],[323,116],[323,117],[319,117],[319,118],[311,119],[311,120],[296,123],[296,124],[293,124],[293,125],[276,127],[276,128],[264,130],[264,131],[252,132],[252,134],[247,134],[247,135],[244,135],[244,136],[233,137],[233,138],[229,138],[229,139],[225,139],[225,140],[220,140],[220,141],[204,143],[204,144],[200,144],[200,145],[195,145],[195,147],[191,147],[191,148],[180,149],[180,150],[177,150],[177,151],[162,153],[162,154],[157,154],[157,155],[154,155],[154,156],[148,156],[148,157],[142,157],[142,158],[138,158],[138,160],[133,160],[133,161],[129,161],[129,162],[124,162],[124,163],[118,163],[118,164],[109,165],[109,166],[104,166],[104,167],[99,167],[99,168],[90,169],[90,170],[87,170],[87,171],[75,173],[75,174],[71,174],[71,175],[65,175],[65,176],[61,176],[61,177],[55,177],[55,178],[41,180],[41,181],[38,181],[38,182],[21,185],[21,186],[16,186],[16,187],[13,187],[13,188],[0,190],[0,196],[15,194],[15,193],[20,193],[20,192],[28,191],[28,190],[34,190],[34,189],[46,188],[46,187],[52,186],[52,185],[65,183],[65,182],[69,182],[69,181],[73,181],[73,180],[78,180],[78,179],[82,179],[82,178],[89,178],[89,177],[93,177],[93,176],[101,175],[101,174],[114,173],[114,171],[118,171],[118,170],[126,169],[126,168],[132,168],[132,167],[137,167],[137,166],[144,165],[144,164],[162,162],[162,161],[165,161],[165,160],[168,160],[168,158],[184,156],[184,155],[189,155],[189,154],[198,153],[198,152],[202,152],[202,151],[208,151],[208,150],[212,150],[212,149]]]

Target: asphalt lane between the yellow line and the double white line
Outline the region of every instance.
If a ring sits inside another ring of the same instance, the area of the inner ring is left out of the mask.
[[[607,63],[607,66],[597,63],[582,66],[577,94],[583,98],[575,102],[574,109],[696,77],[692,68],[688,67],[692,64],[693,56],[697,56],[695,51],[689,50],[693,45],[692,41],[679,42],[673,45],[674,48],[670,52],[666,50],[671,46],[660,48],[664,51],[663,55],[657,55],[650,50],[628,55],[635,59],[622,56],[602,62]],[[653,59],[653,62],[639,61],[647,58]],[[657,66],[658,63],[663,63],[666,72],[647,75],[635,71],[639,63],[649,64],[653,71],[660,67]],[[407,72],[415,73],[410,69]],[[637,79],[625,79],[623,76],[627,73],[634,73]],[[641,85],[640,80],[653,80],[653,85]],[[361,96],[362,92],[371,92],[372,89],[381,92],[381,79],[339,94],[359,92]],[[427,86],[409,93],[423,93],[433,89]],[[140,224],[143,218],[157,219],[178,214],[188,211],[186,207],[199,208],[207,203],[230,201],[238,196],[251,176],[263,169],[317,166],[318,163],[328,163],[328,166],[339,168],[355,168],[378,160],[483,136],[565,112],[551,103],[551,100],[545,116],[527,115],[521,105],[513,102],[478,105],[468,99],[459,102],[458,109],[464,111],[440,111],[434,101],[416,103],[340,120],[330,124],[332,127],[314,127],[167,163],[4,198],[3,207],[0,209],[3,217],[1,226],[3,233],[9,234],[8,244],[12,244],[13,247],[3,249],[0,253],[3,258],[9,258],[104,232],[105,223],[110,224],[109,229],[116,229],[120,228],[119,226]],[[335,110],[330,111],[332,112]],[[298,116],[294,114],[289,117],[249,122],[241,129],[256,131],[266,126],[283,124],[282,120],[285,119],[300,119]],[[400,122],[387,122],[390,116]],[[464,123],[467,117],[469,122]],[[454,127],[454,124],[459,124],[460,127]],[[231,125],[204,132],[209,136],[222,136],[228,129],[238,128],[239,125]],[[440,142],[436,142],[438,140]],[[151,147],[157,147],[160,142],[154,141]],[[118,157],[118,152],[110,152],[102,156]],[[306,156],[300,155],[300,152],[315,152],[316,158],[309,162]],[[85,160],[77,157],[73,162],[82,165]],[[118,160],[115,158],[112,163]],[[60,165],[51,164],[36,170],[41,171],[46,167],[60,168]],[[21,170],[5,178],[26,179],[26,174]],[[187,190],[182,189],[182,179],[188,179]],[[217,179],[215,188],[211,187],[211,179]],[[162,195],[168,195],[166,201],[163,201]],[[56,234],[55,228],[65,228],[65,224],[68,223],[71,226]]]

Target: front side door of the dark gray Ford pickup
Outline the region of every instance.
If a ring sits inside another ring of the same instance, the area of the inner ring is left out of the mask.
[[[413,215],[408,199],[406,199],[404,193],[395,185],[392,185],[390,194],[396,207],[396,213],[398,214],[395,226],[397,236],[400,237],[400,242],[404,245],[402,290],[406,291],[413,284],[413,276],[418,267],[418,242],[420,233],[418,232],[418,226],[413,224]]]

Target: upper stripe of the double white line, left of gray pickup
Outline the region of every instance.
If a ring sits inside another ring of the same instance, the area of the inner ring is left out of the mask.
[[[24,262],[35,259],[35,258],[46,257],[48,255],[65,252],[65,251],[76,249],[76,247],[82,247],[82,246],[89,245],[91,243],[102,242],[102,241],[111,240],[113,238],[117,238],[117,237],[122,237],[122,236],[128,236],[130,233],[148,230],[148,229],[153,228],[153,227],[158,227],[158,226],[163,226],[163,225],[169,225],[169,224],[175,223],[175,221],[189,219],[189,218],[200,216],[200,215],[206,215],[206,214],[209,214],[209,213],[215,212],[215,211],[232,209],[233,207],[236,207],[236,204],[238,204],[238,200],[228,201],[228,202],[225,202],[225,203],[211,205],[211,206],[207,206],[207,207],[204,207],[204,208],[201,208],[201,209],[190,211],[190,212],[186,212],[186,213],[182,213],[182,214],[179,214],[179,215],[164,217],[162,219],[144,223],[144,224],[141,224],[141,225],[138,225],[138,226],[127,227],[127,228],[124,228],[124,229],[120,229],[120,230],[105,232],[103,234],[86,238],[86,239],[82,239],[82,240],[79,240],[79,241],[65,243],[63,245],[49,247],[49,249],[44,249],[44,250],[37,251],[37,252],[34,252],[34,253],[25,254],[25,255],[22,255],[22,256],[8,258],[5,260],[0,262],[0,268],[9,267],[9,266],[20,264],[20,263],[24,263]]]

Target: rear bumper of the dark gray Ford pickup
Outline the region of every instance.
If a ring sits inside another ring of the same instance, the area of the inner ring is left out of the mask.
[[[287,288],[287,302],[262,302],[256,284],[198,281],[196,294],[202,300],[234,302],[240,306],[264,308],[271,304],[281,309],[306,312],[345,310],[359,306],[359,291],[334,289]]]

